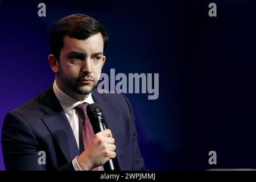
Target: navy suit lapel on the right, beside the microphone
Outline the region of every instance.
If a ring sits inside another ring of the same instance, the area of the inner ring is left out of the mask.
[[[120,147],[122,146],[123,136],[118,132],[118,130],[122,126],[118,122],[119,118],[117,111],[113,109],[111,103],[109,103],[109,101],[107,101],[104,96],[97,92],[97,89],[93,90],[92,97],[94,102],[97,102],[97,104],[101,107],[106,128],[112,131],[113,138],[115,139],[115,146],[117,146],[117,148],[115,149],[115,152],[117,154],[117,161],[118,164],[120,164],[120,159],[118,158],[118,155],[120,155],[122,152]]]

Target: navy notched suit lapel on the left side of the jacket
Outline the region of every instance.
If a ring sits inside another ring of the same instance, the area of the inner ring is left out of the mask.
[[[47,116],[42,118],[42,120],[65,158],[70,162],[79,155],[79,148],[77,147],[71,125],[53,92],[52,85],[42,94],[40,109],[47,113]]]

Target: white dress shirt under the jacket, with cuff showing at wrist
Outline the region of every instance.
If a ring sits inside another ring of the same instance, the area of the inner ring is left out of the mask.
[[[87,102],[88,104],[93,104],[94,101],[92,98],[92,93],[89,93],[89,96],[85,98],[85,100],[77,101],[75,98],[72,98],[67,94],[65,94],[64,92],[62,92],[58,88],[56,81],[53,82],[53,92],[55,93],[57,99],[59,100],[61,106],[63,107],[64,113],[67,116],[68,121],[73,130],[77,146],[79,147],[79,121],[81,121],[81,117],[77,112],[77,110],[75,109],[75,107],[84,102]],[[76,171],[82,171],[79,164],[77,163],[76,158],[72,160],[73,167],[75,168]],[[104,170],[103,166],[100,166],[99,170],[100,171]]]

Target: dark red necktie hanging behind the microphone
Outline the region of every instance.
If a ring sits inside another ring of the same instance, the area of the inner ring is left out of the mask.
[[[89,105],[88,103],[84,102],[83,104],[80,104],[77,106],[77,111],[80,114],[82,119],[82,138],[80,138],[80,141],[79,141],[80,150],[81,148],[82,149],[86,148],[90,143],[90,140],[92,140],[92,138],[94,137],[93,128],[92,128],[92,125],[90,124],[90,121],[86,112],[86,107],[88,105]],[[81,145],[82,143],[84,144],[84,146]],[[92,169],[92,171],[98,171],[98,167]]]

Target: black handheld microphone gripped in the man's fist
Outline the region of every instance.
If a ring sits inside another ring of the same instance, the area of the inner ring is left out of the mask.
[[[94,134],[105,130],[104,119],[102,117],[102,111],[97,103],[89,104],[86,107],[86,112],[92,125]],[[116,171],[117,168],[114,166],[113,160],[109,159],[105,164],[103,164],[105,171]]]

